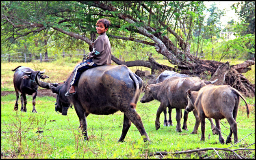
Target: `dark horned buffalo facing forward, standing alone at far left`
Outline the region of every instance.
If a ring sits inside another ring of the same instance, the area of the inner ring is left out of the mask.
[[[29,67],[24,67],[24,66],[18,66],[15,69],[13,69],[12,71],[15,71],[14,75],[13,75],[13,85],[14,85],[14,89],[16,92],[16,103],[14,106],[14,110],[17,111],[18,110],[18,99],[19,99],[19,92],[20,94],[20,102],[21,102],[21,111],[23,112],[27,112],[27,108],[26,108],[26,104],[27,104],[27,98],[26,98],[26,94],[28,95],[32,95],[33,96],[33,100],[32,100],[32,104],[33,104],[33,110],[32,112],[37,113],[37,110],[35,109],[35,99],[37,96],[37,88],[38,85],[35,82],[35,76],[37,74],[37,71],[29,68]],[[47,75],[41,75],[45,72],[45,70],[43,72],[39,72],[38,74],[38,78],[41,79],[45,79],[45,78],[49,78]],[[23,107],[23,103],[24,103],[24,107]]]

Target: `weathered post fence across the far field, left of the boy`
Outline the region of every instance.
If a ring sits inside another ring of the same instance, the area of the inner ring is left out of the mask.
[[[76,49],[76,51],[83,51],[83,54],[65,54],[65,52],[63,51],[62,52],[62,57],[65,58],[65,56],[70,56],[72,57],[73,55],[83,55],[83,57],[85,56],[85,49]],[[40,60],[40,62],[42,61],[52,61],[52,60],[56,60],[57,59],[57,55],[55,54],[55,57],[52,56],[52,57],[48,57],[47,59],[46,58],[43,58],[42,57],[42,53],[39,53],[39,56],[40,58],[39,59],[36,59],[36,58],[32,58],[32,54],[29,53],[28,56],[26,55],[26,53],[24,53],[24,56],[21,56],[21,55],[13,55],[13,54],[17,54],[17,53],[23,53],[23,52],[16,52],[16,53],[7,53],[5,55],[1,55],[1,61],[8,61],[8,62],[11,62],[11,61],[24,61],[24,62],[31,62],[32,60]],[[14,59],[13,59],[14,58]],[[18,58],[21,58],[21,59],[18,59]]]

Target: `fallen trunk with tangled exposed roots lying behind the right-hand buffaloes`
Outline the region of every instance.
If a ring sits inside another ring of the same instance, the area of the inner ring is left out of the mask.
[[[241,64],[231,66],[229,62],[222,63],[217,61],[201,60],[201,65],[194,68],[190,68],[189,66],[174,68],[163,64],[159,64],[154,60],[154,58],[151,55],[149,55],[148,61],[137,60],[124,62],[115,58],[115,56],[112,56],[112,60],[116,64],[124,64],[128,67],[144,66],[151,68],[152,74],[154,74],[156,70],[179,70],[180,73],[202,77],[203,79],[204,77],[206,77],[204,75],[210,75],[210,81],[218,79],[215,85],[231,85],[245,96],[255,96],[255,85],[249,82],[249,80],[241,74],[246,73],[248,70],[251,70],[249,66],[255,64],[255,62],[252,60],[246,60]],[[153,78],[155,79],[156,77],[154,76]],[[151,82],[154,83],[154,81]]]

